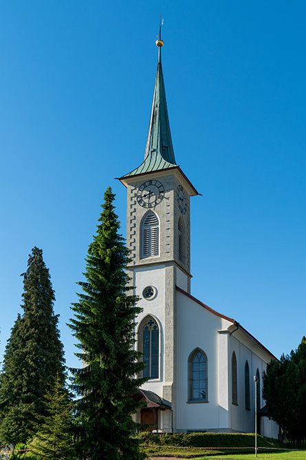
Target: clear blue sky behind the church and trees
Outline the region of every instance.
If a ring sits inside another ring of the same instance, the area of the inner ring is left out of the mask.
[[[107,186],[144,155],[162,61],[192,199],[192,294],[276,357],[306,334],[305,1],[3,0],[0,357],[43,249],[67,328]],[[1,358],[0,358],[1,360]]]

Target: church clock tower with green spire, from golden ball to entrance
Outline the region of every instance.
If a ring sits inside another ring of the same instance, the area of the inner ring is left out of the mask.
[[[198,194],[177,165],[162,73],[162,39],[144,161],[120,177],[127,187],[127,271],[140,297],[136,346],[149,377],[144,390],[171,406],[172,421],[158,412],[156,426],[175,429],[176,286],[190,292],[190,197]],[[162,406],[160,406],[162,407]],[[142,414],[142,423],[147,415]],[[155,414],[155,418],[157,415]]]

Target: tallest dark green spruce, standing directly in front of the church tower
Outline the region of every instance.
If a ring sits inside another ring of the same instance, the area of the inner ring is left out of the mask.
[[[72,310],[75,317],[70,327],[80,341],[82,369],[74,369],[74,390],[80,396],[77,406],[78,458],[129,459],[143,458],[138,441],[131,437],[135,423],[131,414],[138,386],[145,379],[136,376],[143,369],[141,354],[133,350],[134,318],[141,312],[137,298],[129,292],[129,278],[124,270],[129,252],[118,230],[114,212],[115,195],[105,192],[97,232],[87,253],[87,281],[78,283],[83,293]]]

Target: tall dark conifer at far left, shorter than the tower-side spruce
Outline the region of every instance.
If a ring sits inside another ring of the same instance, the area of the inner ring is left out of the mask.
[[[65,381],[63,345],[54,314],[54,290],[43,251],[33,248],[23,273],[23,315],[14,323],[0,376],[0,440],[25,443],[37,416],[46,414],[45,393],[58,374]]]

